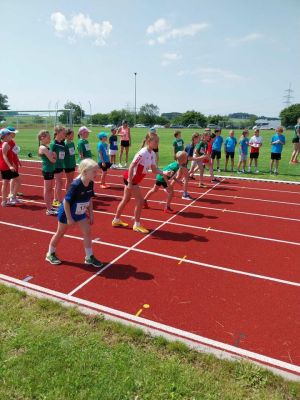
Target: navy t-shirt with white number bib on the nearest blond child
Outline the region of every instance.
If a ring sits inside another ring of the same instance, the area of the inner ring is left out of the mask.
[[[91,181],[88,186],[85,186],[81,178],[75,179],[66,194],[65,200],[70,203],[71,215],[75,220],[85,218],[86,210],[89,207],[90,199],[95,195],[94,182]],[[63,203],[58,211],[59,217],[65,218]]]

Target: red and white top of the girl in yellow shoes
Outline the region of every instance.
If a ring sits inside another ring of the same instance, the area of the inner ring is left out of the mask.
[[[141,182],[146,176],[148,169],[151,165],[156,164],[156,156],[153,150],[148,150],[147,147],[143,147],[136,153],[132,161],[133,164],[133,178],[132,183],[134,185]],[[128,170],[124,172],[124,179],[128,180]]]

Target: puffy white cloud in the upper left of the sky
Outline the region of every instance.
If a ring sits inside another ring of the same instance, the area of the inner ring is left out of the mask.
[[[56,33],[60,36],[66,34],[69,43],[74,43],[77,38],[89,37],[96,46],[104,46],[112,31],[109,21],[95,22],[82,13],[67,19],[61,12],[55,12],[51,14],[51,21]]]

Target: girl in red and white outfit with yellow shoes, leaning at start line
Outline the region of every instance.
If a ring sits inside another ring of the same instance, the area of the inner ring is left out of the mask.
[[[155,133],[148,133],[146,136],[146,147],[143,147],[138,153],[136,153],[129,169],[124,172],[124,195],[121,203],[118,206],[115,218],[112,221],[112,226],[127,227],[126,222],[121,221],[121,214],[130,201],[131,197],[135,198],[136,206],[134,209],[134,225],[133,230],[140,233],[149,233],[148,229],[144,228],[140,223],[141,210],[144,204],[144,197],[141,193],[139,183],[146,176],[149,169],[154,174],[165,175],[160,169],[156,167],[156,156],[153,149],[158,146],[159,137]]]

